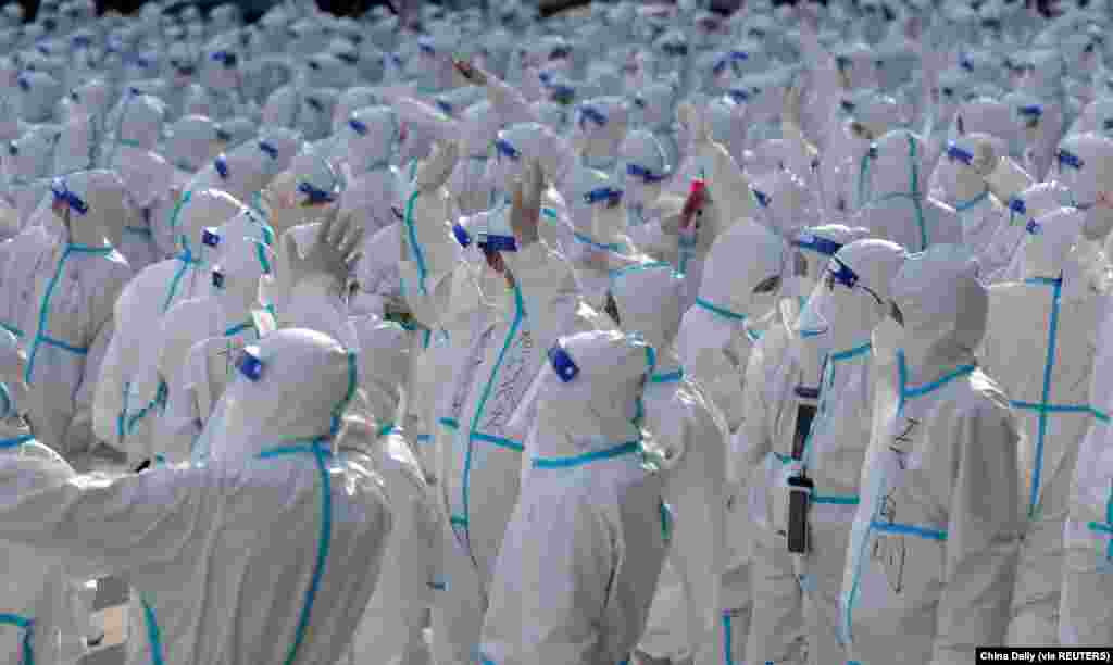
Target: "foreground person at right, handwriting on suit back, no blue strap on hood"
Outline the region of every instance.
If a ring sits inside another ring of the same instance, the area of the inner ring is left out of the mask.
[[[977,270],[938,245],[893,281],[897,380],[875,403],[839,601],[848,659],[863,665],[957,665],[1005,641],[1020,428],[974,358],[988,310]]]

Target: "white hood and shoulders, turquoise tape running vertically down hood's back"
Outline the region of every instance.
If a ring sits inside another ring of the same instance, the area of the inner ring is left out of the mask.
[[[863,161],[869,204],[854,224],[908,251],[963,241],[962,220],[954,209],[924,193],[930,168],[924,152],[925,145],[916,135],[890,131],[870,146]]]

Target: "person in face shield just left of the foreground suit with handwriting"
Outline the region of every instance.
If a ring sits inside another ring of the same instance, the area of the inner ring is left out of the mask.
[[[875,395],[870,332],[888,316],[888,287],[904,259],[904,248],[886,240],[846,245],[797,324],[807,334],[798,343],[802,354],[823,360],[819,405],[808,429],[794,438],[787,486],[775,488],[780,500],[774,518],[787,513],[787,554],[799,579],[809,663],[843,652],[839,595]]]

